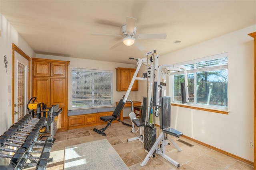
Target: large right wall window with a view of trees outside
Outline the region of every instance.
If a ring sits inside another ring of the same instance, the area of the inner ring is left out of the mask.
[[[228,57],[227,53],[178,64],[188,72],[189,104],[226,110],[228,107]],[[181,102],[180,83],[184,72],[173,72],[172,102]]]

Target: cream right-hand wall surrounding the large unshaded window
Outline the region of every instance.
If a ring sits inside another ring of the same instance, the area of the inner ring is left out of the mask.
[[[253,39],[248,33],[256,25],[159,55],[159,64],[176,64],[202,57],[228,53],[228,115],[171,107],[171,127],[184,135],[254,162]],[[175,45],[175,44],[173,44]]]

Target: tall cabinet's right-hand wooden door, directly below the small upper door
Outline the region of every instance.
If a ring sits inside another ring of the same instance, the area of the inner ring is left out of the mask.
[[[51,78],[51,105],[66,105],[66,79]]]

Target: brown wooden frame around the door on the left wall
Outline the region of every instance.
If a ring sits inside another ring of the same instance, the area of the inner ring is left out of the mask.
[[[30,57],[26,55],[17,45],[12,43],[12,124],[14,123],[14,53],[15,51],[28,60],[28,99],[30,99]],[[25,101],[24,101],[25,102]],[[24,104],[25,105],[25,104]],[[24,106],[25,107],[25,106]]]

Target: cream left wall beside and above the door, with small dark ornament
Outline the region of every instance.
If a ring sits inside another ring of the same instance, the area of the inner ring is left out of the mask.
[[[0,135],[2,135],[12,125],[12,105],[8,106],[7,103],[8,100],[12,100],[12,93],[8,93],[8,86],[12,86],[12,43],[29,57],[35,57],[36,54],[1,13],[0,31]],[[8,61],[7,74],[4,55]]]

